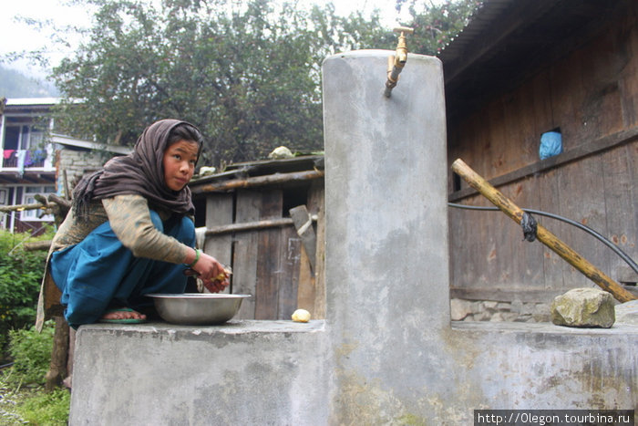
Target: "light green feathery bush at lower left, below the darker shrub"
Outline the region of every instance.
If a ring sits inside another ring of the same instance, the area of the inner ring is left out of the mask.
[[[35,327],[9,332],[9,353],[14,359],[8,383],[44,385],[49,369],[55,327],[47,321],[46,327],[38,333]]]

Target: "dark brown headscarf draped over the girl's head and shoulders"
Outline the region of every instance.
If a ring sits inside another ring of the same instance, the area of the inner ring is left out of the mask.
[[[178,119],[162,119],[151,124],[135,143],[129,155],[113,158],[96,171],[82,178],[73,191],[73,209],[78,218],[86,218],[88,203],[95,199],[136,193],[149,203],[162,206],[181,215],[194,212],[190,188],[172,191],[164,181],[164,151],[170,131],[180,124],[192,126]],[[192,126],[195,130],[194,126]],[[197,130],[199,135],[199,130]],[[201,151],[201,136],[199,140]],[[199,157],[199,152],[198,152]]]

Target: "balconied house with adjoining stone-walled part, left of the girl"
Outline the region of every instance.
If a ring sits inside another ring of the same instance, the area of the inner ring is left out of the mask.
[[[127,147],[105,146],[56,132],[51,108],[57,99],[3,99],[0,105],[0,206],[36,203],[35,195],[66,197],[77,178],[100,167]],[[69,189],[70,188],[70,189]],[[15,232],[38,232],[53,216],[42,210],[0,215],[0,226]]]

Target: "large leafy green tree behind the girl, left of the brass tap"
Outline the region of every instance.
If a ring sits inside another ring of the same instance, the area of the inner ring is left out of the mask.
[[[324,57],[384,38],[378,16],[343,18],[332,5],[84,3],[98,10],[88,41],[53,72],[66,99],[61,127],[131,145],[157,119],[185,119],[202,130],[209,164],[263,158],[279,145],[323,149]]]

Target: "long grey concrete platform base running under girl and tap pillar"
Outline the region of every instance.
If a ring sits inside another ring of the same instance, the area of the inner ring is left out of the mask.
[[[70,424],[469,425],[474,409],[627,410],[638,400],[631,325],[452,323],[376,372],[367,359],[347,386],[335,379],[365,345],[334,346],[328,328],[80,327]]]

